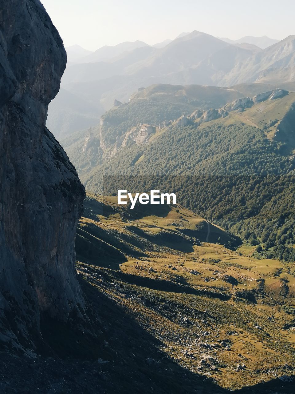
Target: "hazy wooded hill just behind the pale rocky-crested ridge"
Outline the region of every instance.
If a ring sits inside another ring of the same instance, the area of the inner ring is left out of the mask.
[[[232,100],[246,95],[255,95],[268,89],[266,85],[239,85],[238,89],[200,85],[152,85],[139,89],[131,96],[128,104],[105,113],[101,124],[90,129],[68,133],[61,138],[61,144],[66,152],[75,160],[75,166],[82,177],[93,169],[102,158],[101,145],[109,145],[116,140],[117,134],[123,135],[139,124],[159,126],[170,124],[171,120],[181,115],[189,115],[196,109],[222,107]],[[105,133],[101,134],[101,127]],[[101,141],[101,138],[103,142]]]

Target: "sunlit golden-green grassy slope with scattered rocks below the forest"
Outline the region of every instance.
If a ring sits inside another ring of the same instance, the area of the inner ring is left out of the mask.
[[[144,214],[118,208],[115,199],[88,195],[85,202],[77,269],[90,287],[123,307],[168,359],[194,376],[235,389],[292,374],[295,333],[284,312],[295,296],[289,264],[256,260],[248,250],[210,243],[210,235],[208,243],[198,241],[208,235],[205,221],[181,206]],[[210,228],[227,242],[229,233]],[[185,229],[196,230],[193,239]],[[92,254],[84,247],[87,236]],[[109,245],[101,243],[104,237]],[[199,370],[208,355],[212,359]],[[234,372],[236,364],[246,368]]]

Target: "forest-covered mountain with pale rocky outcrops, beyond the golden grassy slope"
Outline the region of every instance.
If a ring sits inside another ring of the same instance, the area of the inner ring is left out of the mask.
[[[104,186],[111,194],[124,186],[134,192],[159,183],[177,190],[179,203],[196,214],[249,245],[261,244],[261,256],[291,261],[295,93],[259,84],[236,88],[247,96],[221,90],[221,102],[225,94],[240,98],[216,109],[205,95],[212,89],[216,98],[221,88],[140,90],[105,113],[99,127],[62,143],[88,190],[101,192]],[[269,90],[260,93],[262,88]],[[199,102],[192,100],[196,92]],[[286,213],[271,221],[274,210]]]

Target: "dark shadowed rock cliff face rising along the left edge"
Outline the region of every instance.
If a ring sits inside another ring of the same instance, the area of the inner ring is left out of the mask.
[[[46,129],[66,53],[39,0],[0,0],[0,344],[34,348],[40,316],[83,313],[74,268],[85,191]]]

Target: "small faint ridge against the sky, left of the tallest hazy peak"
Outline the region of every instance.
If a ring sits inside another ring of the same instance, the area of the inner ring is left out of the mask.
[[[141,48],[142,46],[148,45],[142,41],[126,41],[115,46],[105,45],[96,50],[95,52],[92,52],[91,54],[85,56],[84,58],[81,58],[80,63],[111,61],[112,58],[116,58],[117,56],[122,55],[124,52],[130,52],[131,50]]]

